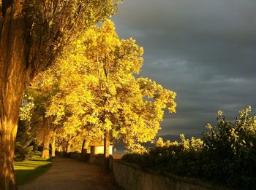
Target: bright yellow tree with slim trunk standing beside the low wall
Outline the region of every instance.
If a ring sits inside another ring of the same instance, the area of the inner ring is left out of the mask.
[[[133,76],[143,65],[143,49],[134,39],[118,39],[110,20],[91,26],[64,52],[53,67],[59,93],[48,115],[72,116],[77,128],[105,136],[105,157],[110,138],[142,149],[140,143],[157,135],[164,109],[175,112],[175,92]]]

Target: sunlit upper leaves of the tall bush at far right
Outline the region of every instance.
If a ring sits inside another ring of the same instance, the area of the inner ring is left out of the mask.
[[[251,107],[239,111],[236,122],[228,122],[222,111],[218,111],[218,125],[208,124],[208,132],[204,135],[207,149],[231,151],[232,154],[252,151],[255,146],[256,124],[255,117],[251,116]],[[226,153],[228,153],[226,151]]]

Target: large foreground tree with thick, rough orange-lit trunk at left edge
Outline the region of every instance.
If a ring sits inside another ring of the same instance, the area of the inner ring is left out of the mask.
[[[16,189],[13,172],[24,87],[52,65],[80,31],[116,12],[118,0],[0,1],[0,188]]]

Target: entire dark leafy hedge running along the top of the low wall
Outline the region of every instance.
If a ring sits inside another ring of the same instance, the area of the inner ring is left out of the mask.
[[[236,122],[227,122],[218,112],[217,127],[207,124],[202,140],[185,139],[181,143],[160,138],[154,148],[143,154],[126,154],[122,158],[145,169],[206,178],[216,183],[242,189],[256,186],[256,119],[251,108],[239,112]]]

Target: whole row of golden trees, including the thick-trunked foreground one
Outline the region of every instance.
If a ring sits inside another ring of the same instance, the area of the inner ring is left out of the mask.
[[[133,76],[143,63],[135,41],[118,39],[110,21],[94,25],[120,1],[0,0],[0,189],[16,189],[18,115],[33,80],[26,93],[34,100],[24,98],[20,120],[44,142],[43,157],[56,132],[66,147],[78,136],[104,136],[107,147],[112,136],[141,149],[163,109],[175,111],[174,92]]]

